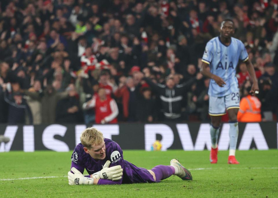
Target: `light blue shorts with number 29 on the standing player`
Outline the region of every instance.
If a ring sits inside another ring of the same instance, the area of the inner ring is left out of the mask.
[[[222,116],[226,114],[226,110],[239,109],[239,92],[231,93],[223,97],[209,97],[209,114],[211,116]]]

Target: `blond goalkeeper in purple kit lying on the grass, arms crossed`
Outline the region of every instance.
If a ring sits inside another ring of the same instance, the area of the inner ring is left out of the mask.
[[[170,166],[158,165],[151,170],[131,164],[123,159],[122,149],[116,142],[103,138],[93,127],[85,129],[80,140],[72,153],[71,171],[68,172],[70,185],[151,183],[171,175],[192,180],[191,173],[175,159]],[[84,168],[89,175],[83,176]]]

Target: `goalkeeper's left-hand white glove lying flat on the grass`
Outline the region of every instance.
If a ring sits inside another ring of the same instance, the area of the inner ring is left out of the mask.
[[[67,178],[69,179],[69,185],[93,185],[94,179],[85,177],[80,171],[78,171],[76,168],[72,167],[72,172],[67,173]]]

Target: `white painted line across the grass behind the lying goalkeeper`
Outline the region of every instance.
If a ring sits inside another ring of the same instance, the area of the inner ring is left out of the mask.
[[[197,169],[188,169],[190,171],[201,171],[201,170],[220,170],[220,169],[278,169],[278,167],[253,167],[253,168],[197,168]],[[45,179],[45,178],[58,178],[58,177],[67,177],[67,176],[46,176],[46,177],[24,177],[24,178],[14,178],[14,179],[0,179],[0,181],[12,181],[12,180],[33,180],[33,179]]]

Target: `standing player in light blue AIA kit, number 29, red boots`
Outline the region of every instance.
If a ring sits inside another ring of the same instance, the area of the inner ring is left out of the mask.
[[[231,19],[225,19],[221,23],[220,36],[212,38],[207,44],[202,57],[201,73],[209,78],[209,115],[211,116],[211,153],[210,161],[217,163],[217,138],[219,134],[222,115],[229,116],[230,151],[228,164],[239,164],[235,158],[237,146],[239,110],[239,88],[236,74],[238,61],[246,63],[248,72],[253,82],[250,93],[259,93],[258,81],[253,64],[248,59],[248,53],[244,44],[233,38],[235,32],[234,23]]]

